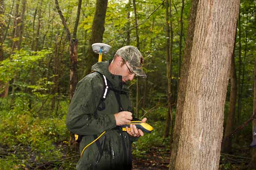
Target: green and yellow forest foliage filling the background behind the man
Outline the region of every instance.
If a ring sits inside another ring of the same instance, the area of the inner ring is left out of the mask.
[[[72,31],[78,1],[59,0],[59,4]],[[87,64],[87,53],[95,4],[96,0],[82,1],[77,31],[79,80],[85,76],[84,70],[91,67]],[[182,3],[181,0],[171,0],[171,5],[171,101],[175,119]],[[65,127],[70,102],[69,41],[55,3],[52,0],[0,0],[0,7],[0,169],[39,169],[41,165],[53,169],[75,169],[78,157],[65,159],[78,155],[69,144],[69,132]],[[136,142],[133,154],[145,156],[144,153],[150,149],[145,146],[164,145],[169,150],[169,138],[162,138],[167,112],[165,3],[162,0],[136,0],[136,7],[138,24],[143,23],[138,27],[139,45],[144,58],[143,69],[148,76],[147,80],[139,80],[139,117],[146,113],[145,117],[155,130]],[[190,0],[185,0],[182,53],[190,7]],[[131,0],[109,0],[103,43],[108,43],[112,48],[103,56],[103,61],[113,58],[118,48],[127,45],[127,33],[124,32],[134,26]],[[136,46],[135,29],[129,33],[130,45]],[[241,0],[235,48],[241,113],[236,113],[235,127],[248,119],[253,110],[255,44],[256,1]],[[133,106],[136,106],[136,81],[129,84]],[[225,118],[229,95],[230,86],[226,97]],[[251,126],[239,134],[233,146],[248,146]],[[247,135],[246,140],[240,140],[244,134]]]

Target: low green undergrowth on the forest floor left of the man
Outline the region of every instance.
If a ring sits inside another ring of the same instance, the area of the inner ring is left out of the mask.
[[[0,106],[0,170],[34,169],[66,157],[69,134],[65,116],[35,116],[26,109],[26,101],[17,102],[12,109]],[[51,169],[58,169],[57,163]]]

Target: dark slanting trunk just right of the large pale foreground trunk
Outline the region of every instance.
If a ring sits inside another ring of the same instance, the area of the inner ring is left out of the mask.
[[[234,129],[234,120],[236,112],[236,100],[237,100],[237,74],[236,74],[236,65],[235,65],[235,48],[236,48],[236,36],[233,47],[233,54],[231,58],[231,67],[230,67],[230,108],[229,114],[226,122],[225,134],[222,141],[222,152],[231,153],[232,151],[232,138],[229,137],[232,134]]]

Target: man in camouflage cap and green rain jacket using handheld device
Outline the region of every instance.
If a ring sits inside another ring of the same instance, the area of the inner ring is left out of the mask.
[[[140,51],[124,46],[112,61],[93,65],[93,72],[77,84],[67,115],[68,130],[82,137],[77,170],[132,169],[131,144],[143,136],[143,131],[134,125],[130,131],[118,126],[133,119],[125,82],[135,75],[146,77],[142,64]]]

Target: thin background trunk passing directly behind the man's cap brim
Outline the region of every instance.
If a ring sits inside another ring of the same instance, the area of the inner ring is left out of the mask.
[[[136,10],[136,1],[132,0],[133,3],[133,11],[134,11],[134,19],[135,19],[135,25],[138,25],[137,23],[137,10]],[[136,31],[136,44],[137,48],[139,49],[139,33],[138,33],[138,27],[135,28]],[[139,78],[137,77],[136,82],[136,117],[139,118]]]

